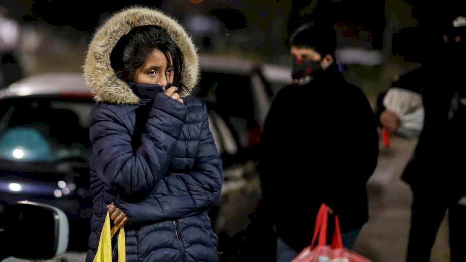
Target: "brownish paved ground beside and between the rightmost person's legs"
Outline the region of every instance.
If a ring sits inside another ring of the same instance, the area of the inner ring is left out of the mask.
[[[376,171],[367,183],[370,219],[354,248],[373,262],[404,261],[412,195],[400,176],[415,145],[416,140],[398,137],[392,138],[389,149],[381,144]],[[448,227],[444,220],[437,234],[431,262],[448,261]]]

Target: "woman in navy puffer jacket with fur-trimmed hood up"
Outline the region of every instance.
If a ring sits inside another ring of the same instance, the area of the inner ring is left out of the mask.
[[[128,222],[126,261],[219,261],[207,210],[220,197],[222,163],[205,105],[190,96],[199,71],[191,39],[160,11],[126,9],[95,34],[84,66],[97,100],[86,262],[109,204],[120,211],[115,224]]]

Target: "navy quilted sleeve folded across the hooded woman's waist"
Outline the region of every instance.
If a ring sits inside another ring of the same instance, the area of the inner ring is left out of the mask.
[[[200,142],[193,169],[183,174],[167,174],[144,201],[116,202],[130,223],[156,222],[200,213],[212,206],[222,189],[222,160],[209,128],[203,104]],[[151,205],[151,208],[147,208]]]

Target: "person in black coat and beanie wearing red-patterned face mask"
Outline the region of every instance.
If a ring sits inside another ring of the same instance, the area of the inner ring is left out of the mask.
[[[366,182],[379,152],[369,102],[335,63],[333,27],[305,24],[290,46],[294,84],[272,102],[259,162],[279,262],[291,261],[311,244],[322,203],[338,215],[344,245],[353,246],[368,221]]]

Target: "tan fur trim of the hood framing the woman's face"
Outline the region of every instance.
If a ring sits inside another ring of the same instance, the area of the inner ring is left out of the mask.
[[[128,84],[115,77],[115,70],[110,66],[110,54],[118,40],[134,27],[159,26],[175,41],[181,49],[184,59],[182,82],[188,91],[182,91],[186,97],[199,81],[199,57],[197,49],[183,27],[170,16],[159,10],[146,7],[132,7],[116,13],[94,35],[84,64],[86,84],[97,101],[118,104],[137,104],[140,100]]]

